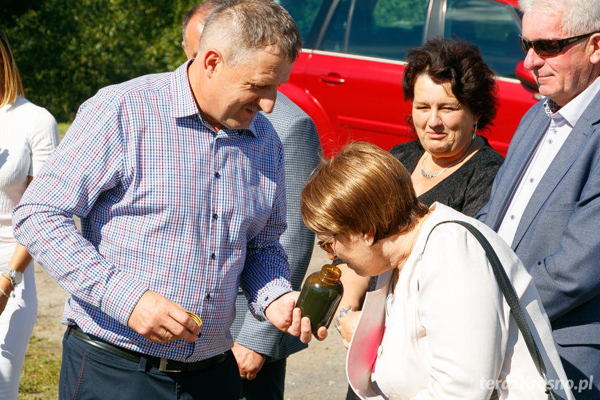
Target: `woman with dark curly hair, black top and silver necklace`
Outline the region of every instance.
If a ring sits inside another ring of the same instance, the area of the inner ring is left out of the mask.
[[[463,40],[438,38],[407,52],[403,77],[405,100],[412,102],[410,126],[418,139],[390,152],[410,173],[419,201],[440,202],[475,216],[489,198],[504,159],[482,131],[496,117],[495,73],[478,47]],[[331,257],[331,256],[330,256]],[[344,296],[337,327],[350,344],[365,292],[375,279],[359,277],[341,265]],[[356,399],[348,390],[348,399]]]

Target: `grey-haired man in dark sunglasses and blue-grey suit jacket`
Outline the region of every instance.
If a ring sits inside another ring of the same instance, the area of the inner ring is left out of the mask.
[[[576,398],[600,399],[600,0],[519,6],[525,67],[545,98],[478,217],[533,275]]]

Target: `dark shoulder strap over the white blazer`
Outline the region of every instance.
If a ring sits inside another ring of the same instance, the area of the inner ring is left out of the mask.
[[[515,321],[517,321],[517,326],[521,331],[521,335],[523,335],[525,339],[525,344],[527,345],[527,349],[531,354],[531,358],[533,358],[533,363],[537,368],[537,372],[540,373],[540,376],[544,378],[546,382],[546,393],[548,394],[548,400],[565,400],[560,397],[556,392],[554,392],[552,385],[548,382],[548,378],[546,378],[546,366],[544,365],[544,360],[542,360],[542,355],[540,355],[540,350],[537,349],[537,344],[535,344],[535,340],[533,339],[533,335],[531,335],[531,330],[527,325],[527,320],[525,319],[525,313],[521,308],[521,303],[519,303],[519,297],[517,297],[517,293],[514,291],[514,287],[512,287],[512,283],[508,279],[508,275],[506,275],[506,271],[502,267],[500,259],[492,245],[489,244],[489,241],[485,239],[485,236],[479,230],[465,221],[444,221],[435,225],[441,225],[443,223],[457,223],[462,225],[473,234],[473,236],[479,241],[483,250],[485,250],[485,255],[487,255],[487,259],[489,259],[489,264],[492,265],[492,271],[494,272],[494,276],[496,277],[496,281],[498,282],[498,287],[502,291],[504,298],[506,298],[506,302],[510,307],[510,314]],[[435,229],[434,227],[434,229]]]

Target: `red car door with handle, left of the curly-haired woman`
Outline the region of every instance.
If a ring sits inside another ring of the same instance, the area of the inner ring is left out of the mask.
[[[348,141],[385,150],[410,140],[402,75],[407,49],[425,37],[428,0],[334,1],[305,65],[305,86],[332,122],[325,153]]]

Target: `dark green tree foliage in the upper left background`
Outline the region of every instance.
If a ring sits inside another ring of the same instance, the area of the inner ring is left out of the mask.
[[[31,102],[74,118],[99,88],[185,61],[190,0],[29,0],[0,13]]]

